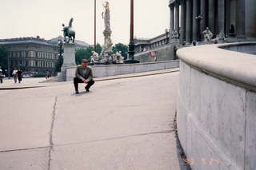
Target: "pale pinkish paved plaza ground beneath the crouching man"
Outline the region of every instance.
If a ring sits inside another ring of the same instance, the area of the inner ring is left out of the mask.
[[[0,90],[1,170],[182,169],[173,125],[178,72],[79,89],[75,95],[65,82]]]

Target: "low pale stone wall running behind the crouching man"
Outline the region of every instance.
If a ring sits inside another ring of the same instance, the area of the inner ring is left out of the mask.
[[[162,69],[178,68],[179,61],[157,61],[137,64],[123,64],[123,65],[93,65],[94,77],[110,77],[130,73],[150,72]],[[66,81],[72,81],[74,78],[76,67],[66,69]]]

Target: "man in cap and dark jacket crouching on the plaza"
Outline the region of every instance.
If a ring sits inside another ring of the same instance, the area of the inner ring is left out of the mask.
[[[78,94],[78,83],[85,83],[86,92],[90,92],[90,86],[94,85],[93,73],[90,67],[87,67],[88,61],[86,59],[82,60],[82,65],[78,65],[75,71],[74,77],[74,89],[75,93]]]

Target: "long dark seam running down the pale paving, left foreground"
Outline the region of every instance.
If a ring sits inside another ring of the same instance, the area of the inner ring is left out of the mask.
[[[54,109],[53,109],[53,113],[52,113],[52,121],[50,124],[50,138],[49,138],[49,143],[50,143],[50,147],[49,147],[49,160],[48,160],[48,170],[50,170],[50,164],[51,164],[51,152],[52,149],[54,147],[54,141],[53,141],[53,132],[54,132],[54,121],[55,121],[55,117],[56,117],[56,105],[57,105],[57,101],[58,101],[58,97],[55,97],[54,100]]]

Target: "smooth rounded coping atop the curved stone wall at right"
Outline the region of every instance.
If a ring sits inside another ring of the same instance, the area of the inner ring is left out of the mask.
[[[177,54],[182,61],[202,71],[256,87],[256,56],[225,49],[238,45],[256,45],[256,42],[198,45],[178,49]]]

